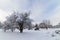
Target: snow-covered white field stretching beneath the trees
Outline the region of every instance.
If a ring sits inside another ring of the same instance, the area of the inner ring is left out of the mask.
[[[60,34],[55,34],[55,30],[57,29],[24,30],[23,33],[0,30],[0,40],[60,40]]]

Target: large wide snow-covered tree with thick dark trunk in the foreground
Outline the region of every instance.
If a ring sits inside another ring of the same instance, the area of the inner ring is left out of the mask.
[[[13,32],[14,29],[18,29],[20,32],[23,32],[24,28],[28,28],[29,30],[32,28],[32,20],[29,18],[30,13],[19,13],[14,12],[11,15],[6,17],[6,21],[4,22],[4,29],[11,29]]]

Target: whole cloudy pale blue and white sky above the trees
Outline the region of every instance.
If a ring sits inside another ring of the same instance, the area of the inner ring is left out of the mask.
[[[50,20],[51,24],[60,23],[60,0],[0,0],[0,21],[13,11],[31,11],[30,18],[35,23]]]

